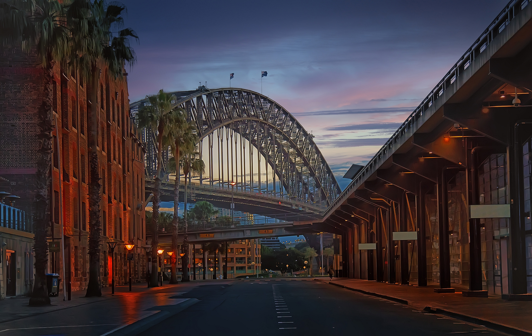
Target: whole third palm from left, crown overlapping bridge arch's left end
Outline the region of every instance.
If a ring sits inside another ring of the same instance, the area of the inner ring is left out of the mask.
[[[153,239],[152,239],[152,260],[157,260],[157,230],[159,230],[159,199],[161,191],[161,171],[162,171],[162,151],[164,131],[172,114],[172,99],[174,96],[160,90],[158,94],[147,96],[149,105],[143,106],[138,111],[138,126],[152,134],[156,134],[157,145],[157,175],[155,176],[155,188],[153,191]],[[149,279],[150,287],[159,286],[157,283],[157,263],[152,262],[152,272]]]

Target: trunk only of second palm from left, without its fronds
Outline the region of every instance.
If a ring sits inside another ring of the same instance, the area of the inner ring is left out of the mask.
[[[96,149],[96,140],[98,137],[98,68],[96,65],[92,67],[92,93],[90,97],[90,172],[89,172],[89,283],[87,286],[86,297],[100,297],[102,296],[102,289],[99,284],[99,240],[101,224],[99,221],[100,203],[102,200],[100,178],[98,173],[98,152]],[[102,130],[103,132],[103,130]]]

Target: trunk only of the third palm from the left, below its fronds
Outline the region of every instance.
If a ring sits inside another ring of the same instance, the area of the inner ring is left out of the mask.
[[[159,199],[161,191],[161,166],[162,166],[162,152],[163,152],[163,133],[164,133],[164,124],[159,122],[157,127],[157,175],[155,176],[155,188],[153,190],[153,216],[152,216],[152,228],[153,228],[153,239],[152,239],[152,273],[149,278],[149,287],[157,287],[159,283],[157,278],[159,278],[159,269],[157,268],[159,262],[159,256],[157,255],[157,245],[159,241],[157,240],[157,235],[159,234]],[[162,266],[162,265],[161,265]]]

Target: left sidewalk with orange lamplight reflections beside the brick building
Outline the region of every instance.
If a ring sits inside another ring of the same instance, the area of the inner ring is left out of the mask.
[[[227,283],[228,280],[213,280]],[[63,301],[63,295],[52,297],[52,305],[29,307],[28,297],[9,298],[0,301],[0,333],[4,335],[36,334],[43,329],[61,330],[61,334],[101,335],[124,325],[153,322],[154,318],[170,316],[197,302],[182,298],[186,292],[211,281],[190,281],[162,287],[147,288],[146,283],[129,286],[102,288],[102,297],[85,298],[85,290],[72,292],[71,301]],[[194,301],[195,300],[195,301]],[[142,321],[140,321],[142,320]],[[121,331],[121,330],[119,330]],[[113,333],[118,334],[118,332]]]

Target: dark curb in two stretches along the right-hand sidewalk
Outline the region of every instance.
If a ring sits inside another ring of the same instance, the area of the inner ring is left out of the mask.
[[[320,280],[315,280],[315,281],[320,281]],[[325,282],[325,281],[320,281],[320,282]],[[398,302],[398,303],[402,303],[402,304],[405,304],[405,305],[410,305],[408,303],[408,301],[405,300],[405,299],[400,299],[400,298],[396,298],[396,297],[393,297],[393,296],[378,294],[376,292],[370,292],[370,291],[366,291],[366,290],[362,290],[362,289],[358,289],[358,288],[350,288],[350,287],[347,287],[347,286],[344,286],[344,285],[339,285],[338,283],[334,283],[334,282],[331,282],[331,281],[328,281],[326,283],[328,283],[329,285],[336,286],[336,287],[340,287],[340,288],[345,288],[345,289],[349,289],[349,290],[352,290],[352,291],[361,292],[361,293],[366,294],[366,295],[376,296],[376,297],[380,297],[380,298],[383,298],[383,299],[388,299],[388,300],[392,300],[392,301],[395,301],[395,302]],[[449,317],[454,317],[454,318],[456,318],[458,320],[462,320],[462,321],[466,321],[466,322],[471,322],[471,323],[483,325],[483,326],[486,326],[489,329],[493,329],[493,330],[496,330],[496,331],[502,331],[504,333],[508,333],[508,334],[511,334],[511,335],[516,335],[516,336],[527,336],[528,335],[529,336],[529,335],[532,334],[532,332],[524,330],[524,329],[519,329],[519,328],[510,326],[510,325],[496,323],[496,322],[489,321],[489,320],[484,320],[483,318],[479,318],[479,317],[475,317],[475,316],[471,316],[471,315],[467,315],[467,314],[462,314],[462,313],[456,313],[456,312],[453,312],[453,311],[448,311],[446,309],[442,309],[442,308],[438,308],[438,307],[427,306],[423,310],[426,311],[426,312],[429,312],[429,313],[446,315],[446,316],[449,316]]]

